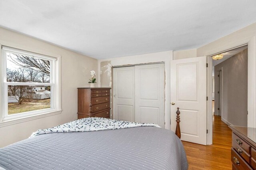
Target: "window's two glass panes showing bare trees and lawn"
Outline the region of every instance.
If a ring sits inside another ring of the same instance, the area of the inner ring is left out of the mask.
[[[50,61],[6,53],[7,82],[50,83]],[[50,108],[50,86],[8,85],[8,114]]]

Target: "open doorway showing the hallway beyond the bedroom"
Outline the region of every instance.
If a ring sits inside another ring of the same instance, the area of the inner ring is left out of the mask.
[[[212,60],[213,125],[221,120],[228,126],[247,127],[248,45],[221,54],[222,59]],[[216,136],[227,135],[219,126],[212,129],[213,144]]]

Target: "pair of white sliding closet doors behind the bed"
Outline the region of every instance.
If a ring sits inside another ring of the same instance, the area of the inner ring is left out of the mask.
[[[113,119],[164,128],[164,63],[113,69]]]

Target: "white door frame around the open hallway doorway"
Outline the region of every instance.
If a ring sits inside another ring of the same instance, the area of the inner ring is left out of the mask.
[[[207,55],[207,96],[208,99],[212,98],[212,56],[224,51],[248,45],[248,115],[247,115],[247,126],[256,128],[256,36],[252,36],[248,42],[240,45],[231,45],[226,50]],[[218,49],[214,50],[218,51]],[[207,102],[207,145],[212,144],[212,101]]]

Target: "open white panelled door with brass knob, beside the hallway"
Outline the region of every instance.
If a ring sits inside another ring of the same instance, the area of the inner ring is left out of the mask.
[[[181,140],[206,145],[206,57],[171,61],[171,129],[180,108]]]

